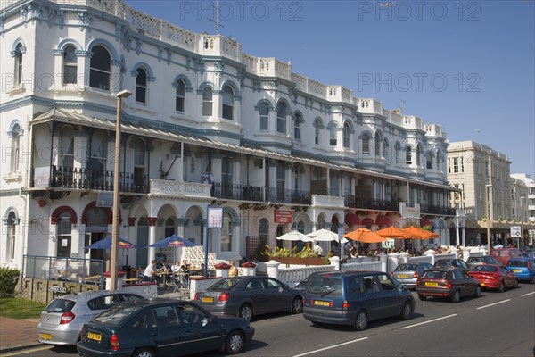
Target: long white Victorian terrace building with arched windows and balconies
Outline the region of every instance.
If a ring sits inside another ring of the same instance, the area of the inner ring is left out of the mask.
[[[218,259],[258,258],[291,229],[407,220],[449,244],[439,125],[119,0],[4,2],[0,41],[2,266],[102,258],[84,247],[111,232],[114,175],[119,237],[140,247],[172,234],[203,245],[209,206],[223,208],[223,228],[210,228]],[[119,259],[144,266],[156,253]]]

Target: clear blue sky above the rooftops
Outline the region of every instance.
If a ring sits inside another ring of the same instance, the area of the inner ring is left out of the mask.
[[[215,1],[128,1],[216,33]],[[243,51],[506,154],[535,179],[535,2],[218,1]]]

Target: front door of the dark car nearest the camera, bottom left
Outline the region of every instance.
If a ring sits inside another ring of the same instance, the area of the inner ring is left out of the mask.
[[[225,331],[210,313],[193,303],[179,305],[177,312],[185,333],[184,354],[215,350],[225,341]]]

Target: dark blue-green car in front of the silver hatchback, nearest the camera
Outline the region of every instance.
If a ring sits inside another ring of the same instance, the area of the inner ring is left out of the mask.
[[[157,298],[119,303],[96,316],[82,328],[77,349],[82,356],[165,357],[217,349],[234,354],[253,335],[249,321]]]

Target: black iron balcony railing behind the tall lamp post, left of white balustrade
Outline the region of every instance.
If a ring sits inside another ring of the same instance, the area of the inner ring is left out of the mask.
[[[113,171],[53,165],[50,172],[49,187],[113,191]],[[146,175],[138,177],[130,172],[121,172],[119,190],[121,192],[147,193],[148,185]]]

